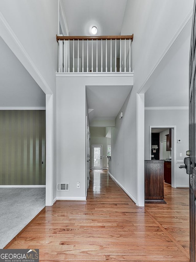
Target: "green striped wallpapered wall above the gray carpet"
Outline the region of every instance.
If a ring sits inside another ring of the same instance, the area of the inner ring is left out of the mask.
[[[0,185],[46,184],[45,113],[0,110]]]

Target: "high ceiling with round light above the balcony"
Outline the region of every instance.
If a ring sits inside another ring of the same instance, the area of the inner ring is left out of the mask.
[[[120,35],[127,0],[62,0],[69,35]]]

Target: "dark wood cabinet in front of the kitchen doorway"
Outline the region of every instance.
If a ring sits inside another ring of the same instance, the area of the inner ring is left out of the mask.
[[[145,203],[164,201],[164,160],[145,160]]]

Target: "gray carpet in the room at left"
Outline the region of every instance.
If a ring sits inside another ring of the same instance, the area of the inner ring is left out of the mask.
[[[0,188],[0,248],[45,206],[45,188]]]

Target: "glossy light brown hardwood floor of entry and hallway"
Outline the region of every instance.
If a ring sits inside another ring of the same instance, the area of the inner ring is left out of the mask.
[[[165,186],[167,204],[137,207],[106,171],[93,171],[87,202],[57,201],[9,248],[40,261],[189,261],[189,190]]]

